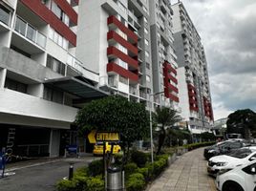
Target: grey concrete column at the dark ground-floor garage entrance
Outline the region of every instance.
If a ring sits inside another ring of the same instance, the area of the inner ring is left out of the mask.
[[[59,156],[59,144],[60,144],[60,130],[51,130],[50,136],[50,158],[55,158]]]

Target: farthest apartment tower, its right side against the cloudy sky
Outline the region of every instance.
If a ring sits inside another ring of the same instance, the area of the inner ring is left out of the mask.
[[[181,117],[193,134],[209,131],[213,112],[207,62],[201,37],[183,4],[172,5]]]

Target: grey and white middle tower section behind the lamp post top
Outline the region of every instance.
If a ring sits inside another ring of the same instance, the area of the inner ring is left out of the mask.
[[[173,11],[168,0],[149,1],[153,93],[156,105],[181,112],[177,77],[177,56],[173,43]],[[162,93],[162,94],[160,94]]]

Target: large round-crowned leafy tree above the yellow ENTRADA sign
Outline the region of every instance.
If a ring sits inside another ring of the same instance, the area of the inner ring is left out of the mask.
[[[80,132],[91,130],[119,132],[121,145],[131,146],[149,134],[149,116],[145,106],[123,96],[108,96],[86,104],[76,115]],[[125,152],[125,150],[124,150]]]

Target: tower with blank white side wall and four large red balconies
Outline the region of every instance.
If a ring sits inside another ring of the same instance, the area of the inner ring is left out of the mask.
[[[79,2],[76,56],[100,89],[149,104],[152,92],[147,0]],[[88,19],[90,18],[90,19]]]

